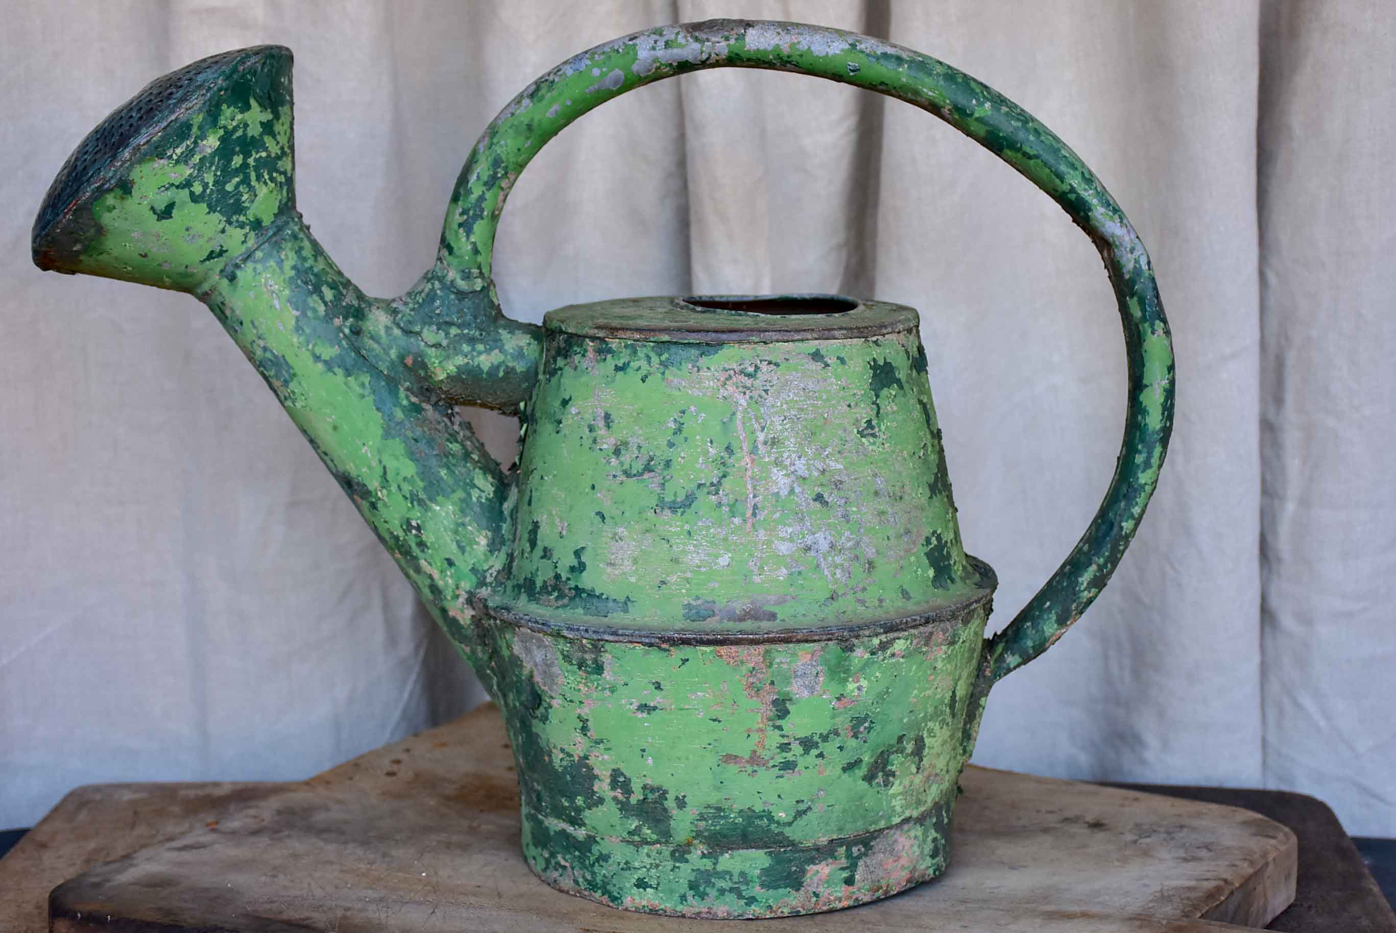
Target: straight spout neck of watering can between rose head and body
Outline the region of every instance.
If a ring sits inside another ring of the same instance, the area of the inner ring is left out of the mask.
[[[512,485],[447,402],[353,344],[387,317],[302,223],[288,223],[200,297],[257,367],[359,513],[456,642],[511,538]]]

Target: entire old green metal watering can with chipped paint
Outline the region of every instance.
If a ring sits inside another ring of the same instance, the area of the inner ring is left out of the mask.
[[[494,233],[529,159],[604,100],[723,66],[930,112],[1104,258],[1129,360],[1120,460],[1071,555],[991,639],[994,573],[960,544],[914,310],[787,294],[602,301],[542,326],[500,311]],[[648,29],[504,107],[461,170],[436,265],[383,300],[310,236],[292,152],[289,50],[195,61],[82,141],[34,259],[212,310],[500,704],[533,872],[712,918],[831,911],[944,872],[990,686],[1110,579],[1173,424],[1149,257],[1094,174],[987,85],[879,39]],[[461,404],[519,416],[517,467]]]

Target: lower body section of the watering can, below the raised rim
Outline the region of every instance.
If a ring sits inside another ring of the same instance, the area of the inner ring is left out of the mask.
[[[603,904],[708,918],[832,911],[935,877],[987,615],[738,644],[482,621],[529,866]]]

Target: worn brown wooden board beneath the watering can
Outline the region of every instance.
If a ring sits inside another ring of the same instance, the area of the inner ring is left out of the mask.
[[[974,767],[962,785],[942,879],[762,930],[1202,933],[1263,926],[1294,897],[1294,835],[1248,810]],[[517,799],[493,707],[302,784],[81,788],[0,860],[0,891],[18,902],[0,932],[47,929],[60,881],[63,932],[744,923],[628,913],[543,886],[518,851]]]

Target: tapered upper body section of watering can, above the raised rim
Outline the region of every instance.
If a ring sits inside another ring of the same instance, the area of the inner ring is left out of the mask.
[[[988,597],[916,312],[780,317],[793,324],[755,340],[762,318],[674,298],[549,314],[497,612],[723,637]],[[747,331],[722,331],[734,324]]]

